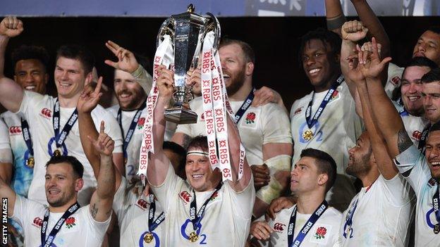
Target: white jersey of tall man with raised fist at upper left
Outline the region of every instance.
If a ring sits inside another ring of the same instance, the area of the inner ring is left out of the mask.
[[[44,193],[44,175],[46,174],[45,165],[51,158],[48,149],[49,146],[52,151],[56,149],[54,142],[49,144],[51,138],[54,137],[52,117],[54,115],[55,102],[56,98],[52,96],[24,91],[23,101],[20,106],[20,113],[28,120],[30,132],[32,133],[32,145],[35,155],[34,177],[30,184],[28,198],[43,204],[47,204],[46,194]],[[60,132],[74,110],[75,108],[60,107]],[[106,133],[115,141],[114,153],[121,153],[122,137],[116,120],[102,106],[97,106],[97,108],[92,110],[92,118],[97,129],[99,129],[102,120],[105,122]],[[82,177],[84,179],[84,186],[78,194],[78,203],[80,205],[87,205],[90,202],[94,188],[97,186],[97,181],[94,177],[92,166],[82,150],[78,121],[73,125],[64,144],[66,144],[68,155],[74,156],[84,165],[84,176]]]

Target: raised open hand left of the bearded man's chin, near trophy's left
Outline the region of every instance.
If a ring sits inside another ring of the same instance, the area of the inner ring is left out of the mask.
[[[78,99],[76,108],[79,113],[90,113],[98,105],[98,101],[102,96],[102,77],[99,77],[96,87],[93,84],[87,84]]]

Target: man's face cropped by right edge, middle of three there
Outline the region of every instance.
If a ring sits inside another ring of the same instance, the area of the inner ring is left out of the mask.
[[[440,120],[440,82],[422,83],[424,117],[434,123]]]

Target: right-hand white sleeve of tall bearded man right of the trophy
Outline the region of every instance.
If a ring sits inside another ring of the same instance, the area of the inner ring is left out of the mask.
[[[269,103],[268,106],[263,107],[263,109],[265,109],[263,113],[263,144],[291,144],[291,126],[286,112],[274,103]]]

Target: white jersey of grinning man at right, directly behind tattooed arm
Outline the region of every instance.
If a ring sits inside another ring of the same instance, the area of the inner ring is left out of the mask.
[[[398,113],[401,115],[403,125],[405,125],[406,133],[410,137],[415,146],[419,146],[420,138],[422,137],[423,129],[429,125],[429,120],[423,117],[416,117],[408,113],[405,108],[395,101],[393,101]]]

